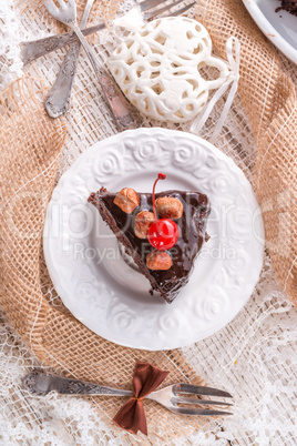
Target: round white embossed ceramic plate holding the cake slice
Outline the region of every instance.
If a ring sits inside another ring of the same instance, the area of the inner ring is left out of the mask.
[[[86,203],[102,185],[151,192],[201,191],[212,212],[188,284],[172,304],[122,259],[115,236]],[[252,186],[234,162],[190,133],[160,128],[120,133],[88,149],[61,178],[48,207],[44,253],[73,315],[121,345],[167,349],[223,328],[244,306],[263,265],[264,229]]]

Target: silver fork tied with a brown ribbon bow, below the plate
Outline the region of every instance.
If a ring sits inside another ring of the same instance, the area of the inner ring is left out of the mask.
[[[99,384],[88,383],[80,379],[63,378],[48,374],[40,369],[34,369],[22,379],[22,385],[27,391],[34,395],[43,396],[55,391],[61,395],[105,395],[105,396],[133,396],[131,391],[105,387]],[[181,396],[191,394],[194,397]],[[153,399],[167,409],[183,415],[233,415],[231,412],[215,410],[213,408],[181,407],[180,404],[196,404],[197,406],[232,406],[229,403],[214,399],[202,399],[202,395],[232,398],[233,396],[225,391],[207,386],[194,386],[192,384],[174,384],[152,392],[145,398]]]

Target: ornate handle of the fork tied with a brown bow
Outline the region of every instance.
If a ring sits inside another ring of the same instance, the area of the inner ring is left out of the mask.
[[[133,396],[131,391],[105,387],[79,379],[63,378],[47,374],[42,371],[33,371],[22,379],[22,385],[34,395],[47,395],[55,391],[61,395],[110,395]]]

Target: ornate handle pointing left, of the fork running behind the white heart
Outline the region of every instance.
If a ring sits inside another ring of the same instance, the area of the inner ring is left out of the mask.
[[[104,23],[95,24],[94,27],[86,28],[82,31],[83,36],[90,36],[94,32],[103,30],[105,27]],[[52,51],[59,50],[60,48],[65,47],[66,44],[73,43],[78,40],[75,32],[64,32],[59,36],[51,36],[49,38],[33,40],[31,42],[21,42],[21,60],[25,65],[41,55],[49,54]]]

